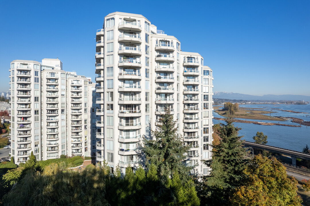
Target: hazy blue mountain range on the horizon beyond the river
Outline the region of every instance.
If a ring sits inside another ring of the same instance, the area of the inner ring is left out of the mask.
[[[237,100],[283,100],[283,101],[310,101],[310,96],[305,95],[273,95],[255,96],[249,94],[240,94],[233,92],[214,92],[213,98],[237,99]]]

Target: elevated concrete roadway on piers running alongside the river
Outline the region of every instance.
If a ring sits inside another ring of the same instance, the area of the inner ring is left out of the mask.
[[[292,165],[296,165],[296,158],[304,159],[304,160],[310,160],[310,154],[305,153],[305,152],[298,152],[290,149],[284,149],[280,147],[274,147],[270,145],[265,145],[265,144],[258,144],[255,142],[248,142],[244,141],[242,144],[245,146],[250,146],[252,148],[257,148],[257,149],[264,149],[270,152],[277,152],[281,153],[287,156],[290,156],[292,158]]]

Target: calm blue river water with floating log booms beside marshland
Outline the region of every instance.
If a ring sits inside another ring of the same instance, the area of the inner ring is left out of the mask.
[[[287,105],[287,104],[279,104],[279,105],[239,105],[239,107],[247,107],[247,108],[265,108],[268,111],[273,111],[277,113],[272,113],[271,116],[282,116],[282,117],[296,117],[301,118],[305,121],[310,121],[310,117],[306,117],[306,114],[296,114],[291,112],[283,112],[277,111],[277,109],[283,110],[293,110],[298,112],[308,112],[310,115],[310,104],[309,105]],[[277,108],[277,109],[276,109]],[[222,117],[219,114],[213,112],[214,117]],[[270,114],[267,114],[268,116]],[[245,120],[245,119],[242,119]],[[249,121],[259,121],[260,120],[251,120]],[[213,120],[214,124],[218,124],[219,122],[225,123],[224,121]],[[278,123],[278,121],[269,121],[262,120],[262,122],[274,122]],[[289,121],[282,121],[280,124],[293,124],[298,125],[296,123],[292,123]],[[234,123],[235,126],[242,128],[239,131],[239,135],[244,135],[242,139],[253,142],[253,136],[256,135],[256,132],[263,132],[264,135],[268,135],[268,145],[292,149],[295,151],[302,151],[303,147],[308,144],[310,146],[310,127],[303,126],[302,127],[286,127],[286,126],[267,126],[267,125],[256,125],[256,124],[247,124],[247,123]]]

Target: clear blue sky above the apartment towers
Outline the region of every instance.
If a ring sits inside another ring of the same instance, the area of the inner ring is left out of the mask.
[[[310,96],[310,1],[0,0],[0,92],[10,62],[58,57],[65,71],[95,77],[95,32],[104,16],[144,15],[198,52],[214,91]]]

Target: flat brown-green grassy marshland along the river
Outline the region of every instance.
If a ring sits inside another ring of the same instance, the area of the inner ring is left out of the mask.
[[[225,116],[224,113],[226,111],[219,110],[219,108],[222,106],[215,106],[214,112],[221,116]],[[271,111],[264,111],[263,109],[260,108],[243,108],[239,107],[239,111],[237,111],[234,115],[232,115],[233,118],[241,118],[241,119],[257,119],[257,120],[271,120],[271,121],[285,121],[284,119],[277,118],[277,117],[272,117],[272,116],[267,116],[264,114],[271,114],[271,113],[276,113],[276,112],[271,112]]]

